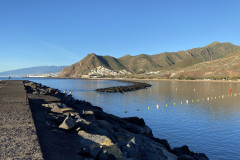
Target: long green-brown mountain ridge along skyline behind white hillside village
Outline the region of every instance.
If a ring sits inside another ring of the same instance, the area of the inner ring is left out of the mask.
[[[121,58],[111,56],[98,56],[89,54],[61,72],[62,77],[76,77],[87,74],[98,66],[118,71],[126,69],[132,73],[140,74],[151,71],[179,70],[195,64],[222,59],[240,51],[240,46],[231,43],[213,42],[205,47],[193,48],[187,51],[164,52],[156,55],[140,54],[126,55]]]

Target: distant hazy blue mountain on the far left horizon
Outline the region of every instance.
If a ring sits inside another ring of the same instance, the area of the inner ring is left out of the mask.
[[[61,72],[66,66],[38,66],[31,68],[22,68],[17,70],[0,72],[1,77],[14,76],[22,77],[27,75],[36,75],[36,74],[48,74],[48,73],[58,73]]]

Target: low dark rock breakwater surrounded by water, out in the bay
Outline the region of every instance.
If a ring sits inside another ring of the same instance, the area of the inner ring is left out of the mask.
[[[132,85],[129,86],[118,86],[118,87],[108,87],[108,88],[99,88],[96,89],[97,92],[109,92],[109,93],[123,93],[123,92],[129,92],[129,91],[136,91],[139,89],[147,89],[148,87],[151,87],[151,84],[143,83],[143,82],[134,82],[134,81],[123,81],[120,82],[124,83],[131,83]]]

